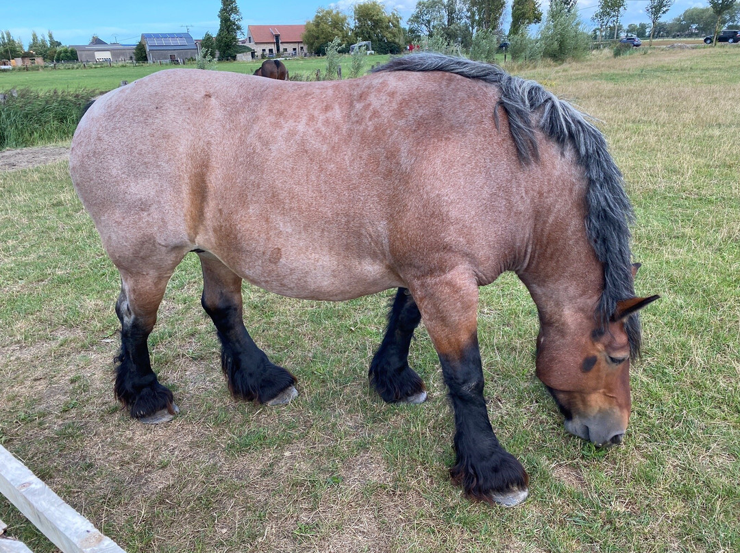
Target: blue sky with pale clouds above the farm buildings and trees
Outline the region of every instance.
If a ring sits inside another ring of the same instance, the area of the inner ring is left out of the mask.
[[[349,10],[356,0],[322,2],[320,0],[238,1],[242,24],[302,24],[313,18],[318,7]],[[546,4],[546,0],[541,0]],[[389,8],[399,11],[404,20],[411,15],[416,0],[384,0]],[[509,2],[511,3],[511,2]],[[582,18],[587,24],[599,0],[579,0]],[[141,33],[181,33],[189,28],[194,38],[202,38],[206,31],[218,31],[218,10],[221,0],[127,0],[124,2],[92,2],[59,4],[58,0],[3,2],[0,10],[0,30],[10,30],[14,38],[28,45],[31,31],[41,35],[52,30],[62,44],[87,44],[93,34],[106,42],[123,44],[138,42]],[[623,21],[647,22],[647,0],[627,0]],[[676,0],[666,18],[673,18],[689,7],[707,6],[706,1]],[[60,9],[61,7],[61,9]],[[544,7],[543,7],[544,11]]]

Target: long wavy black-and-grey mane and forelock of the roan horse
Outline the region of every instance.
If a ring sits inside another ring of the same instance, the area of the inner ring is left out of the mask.
[[[413,54],[393,58],[380,71],[445,71],[493,84],[499,88],[498,106],[508,116],[511,138],[519,160],[528,165],[539,159],[536,129],[561,146],[570,145],[588,179],[586,234],[596,259],[604,267],[604,291],[597,315],[606,328],[616,303],[634,296],[631,272],[630,229],[632,206],[625,193],[622,173],[609,154],[599,129],[568,102],[562,101],[534,81],[509,75],[496,65],[482,64],[440,54]],[[498,123],[498,109],[494,118]],[[633,358],[639,355],[640,326],[637,313],[625,321]]]

